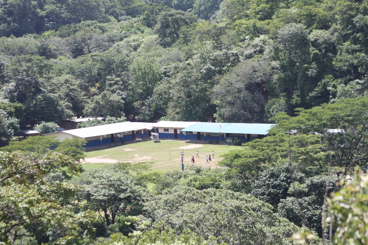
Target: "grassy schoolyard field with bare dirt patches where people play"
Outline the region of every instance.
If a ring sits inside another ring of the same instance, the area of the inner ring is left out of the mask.
[[[158,143],[144,141],[86,152],[83,167],[85,169],[98,168],[120,161],[131,163],[150,162],[152,163],[152,171],[157,172],[180,170],[180,152],[184,151],[184,164],[187,166],[192,164],[191,156],[195,156],[197,150],[199,152],[199,157],[194,158],[196,165],[203,167],[216,167],[217,163],[222,160],[222,157],[220,157],[221,155],[237,149],[244,149],[244,147],[232,145],[202,145],[175,140],[161,140]],[[212,161],[206,163],[206,155],[211,154],[212,150],[215,151],[215,157],[212,157],[211,155]]]

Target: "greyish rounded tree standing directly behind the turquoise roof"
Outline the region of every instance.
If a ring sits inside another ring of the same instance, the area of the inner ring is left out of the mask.
[[[238,64],[221,78],[212,95],[216,120],[237,123],[259,121],[264,113],[265,86],[271,71],[267,58],[254,58]]]

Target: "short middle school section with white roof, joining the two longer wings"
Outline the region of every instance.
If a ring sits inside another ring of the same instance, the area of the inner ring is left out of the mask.
[[[196,139],[197,136],[190,133],[184,133],[181,129],[190,127],[198,122],[182,121],[159,121],[154,124],[155,132],[159,134],[160,139]]]

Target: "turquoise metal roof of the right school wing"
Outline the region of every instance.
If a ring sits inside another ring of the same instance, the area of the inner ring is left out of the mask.
[[[222,133],[229,134],[268,134],[268,130],[276,124],[264,123],[221,123]],[[219,133],[220,123],[196,123],[180,131]]]

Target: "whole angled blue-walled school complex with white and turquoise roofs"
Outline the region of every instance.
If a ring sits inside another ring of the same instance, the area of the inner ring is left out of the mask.
[[[220,127],[221,125],[221,127]],[[183,121],[160,121],[158,123],[123,122],[88,128],[54,132],[56,139],[84,139],[85,147],[131,142],[135,139],[149,139],[151,132],[159,134],[159,139],[180,139],[184,141],[221,141],[233,143],[237,137],[245,142],[261,139],[275,124],[258,123],[200,123]]]

